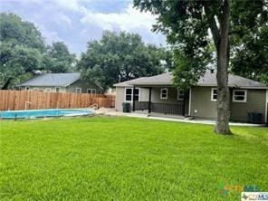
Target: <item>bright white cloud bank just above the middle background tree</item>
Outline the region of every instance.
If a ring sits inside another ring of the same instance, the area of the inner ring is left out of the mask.
[[[81,35],[91,36],[91,27],[96,31],[96,27],[100,30],[110,31],[126,31],[129,33],[140,34],[146,43],[166,44],[166,38],[162,34],[151,32],[152,24],[156,23],[156,16],[150,13],[140,13],[139,10],[130,4],[120,13],[94,13],[87,10],[81,18],[81,24],[84,30]],[[96,35],[97,36],[97,35]],[[100,34],[96,37],[100,38]]]

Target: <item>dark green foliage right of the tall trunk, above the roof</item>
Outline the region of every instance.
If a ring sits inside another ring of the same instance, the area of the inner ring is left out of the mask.
[[[235,1],[232,8],[231,71],[268,85],[268,3]]]

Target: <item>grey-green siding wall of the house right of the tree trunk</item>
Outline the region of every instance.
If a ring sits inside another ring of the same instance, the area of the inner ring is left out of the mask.
[[[231,91],[231,116],[230,120],[248,120],[247,112],[259,112],[263,114],[265,120],[266,90],[247,90],[246,102],[233,102],[233,91]]]

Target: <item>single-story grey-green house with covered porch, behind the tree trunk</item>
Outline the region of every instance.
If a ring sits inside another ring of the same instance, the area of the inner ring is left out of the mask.
[[[122,102],[129,102],[132,111],[175,114],[200,119],[216,118],[215,72],[206,74],[189,91],[172,85],[172,74],[166,72],[115,84],[116,110],[122,111]],[[230,120],[247,122],[249,112],[259,113],[267,122],[268,87],[258,81],[229,74]]]

